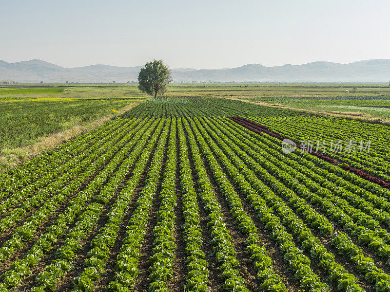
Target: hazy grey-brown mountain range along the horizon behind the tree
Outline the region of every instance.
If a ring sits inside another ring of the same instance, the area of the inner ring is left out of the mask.
[[[16,63],[0,60],[0,80],[20,83],[119,83],[137,81],[140,68],[109,65],[64,68],[38,59]],[[363,60],[350,64],[312,62],[274,67],[248,64],[211,70],[177,68],[172,69],[172,76],[177,82],[388,82],[390,59]]]

